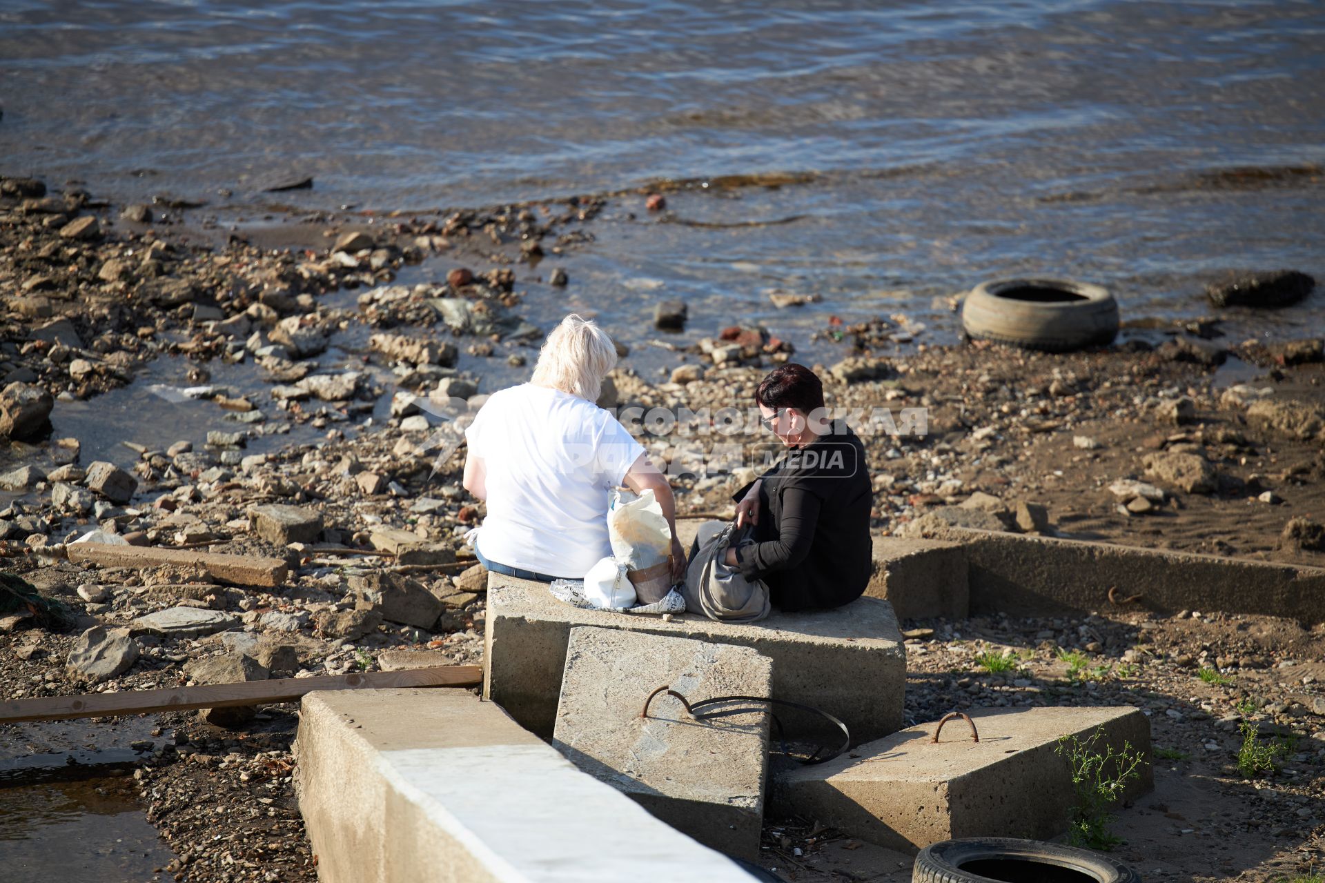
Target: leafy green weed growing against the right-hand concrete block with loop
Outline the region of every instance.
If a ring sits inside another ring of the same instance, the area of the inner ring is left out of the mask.
[[[1121,751],[1105,743],[1104,753],[1096,745],[1105,739],[1104,727],[1097,727],[1088,739],[1063,736],[1053,751],[1068,761],[1076,804],[1068,827],[1068,842],[1093,850],[1112,850],[1122,842],[1109,831],[1113,814],[1109,808],[1122,797],[1128,782],[1141,778],[1145,757],[1122,743]]]

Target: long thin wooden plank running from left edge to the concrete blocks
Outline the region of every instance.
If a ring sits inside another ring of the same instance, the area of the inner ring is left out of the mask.
[[[189,708],[229,708],[294,702],[315,690],[383,690],[390,687],[477,687],[484,680],[481,666],[435,666],[408,671],[367,671],[363,674],[280,678],[217,683],[197,687],[91,692],[78,696],[41,696],[0,703],[0,724],[26,720],[68,720],[107,715],[140,715],[150,711]]]

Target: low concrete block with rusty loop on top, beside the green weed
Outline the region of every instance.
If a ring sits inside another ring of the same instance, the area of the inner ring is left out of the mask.
[[[1124,797],[1154,786],[1150,721],[1136,708],[1008,708],[971,715],[979,743],[961,719],[920,724],[861,745],[818,767],[783,776],[779,809],[815,818],[844,834],[886,849],[916,851],[954,837],[1049,839],[1068,826],[1073,805],[1060,736],[1088,739],[1097,727],[1105,744],[1124,741],[1146,757],[1141,780]]]

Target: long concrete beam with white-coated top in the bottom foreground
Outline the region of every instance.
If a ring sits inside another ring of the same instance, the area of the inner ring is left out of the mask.
[[[298,785],[325,883],[753,879],[466,691],[305,696]]]

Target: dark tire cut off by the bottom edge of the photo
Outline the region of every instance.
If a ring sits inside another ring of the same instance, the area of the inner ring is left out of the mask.
[[[916,857],[912,883],[1141,883],[1106,855],[1072,846],[979,837],[930,843]]]

